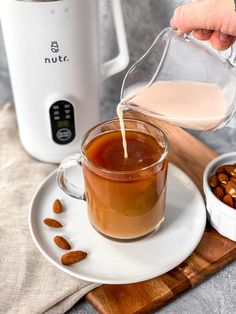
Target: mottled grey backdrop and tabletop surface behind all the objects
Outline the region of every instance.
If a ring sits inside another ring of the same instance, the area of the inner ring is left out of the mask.
[[[157,33],[168,26],[174,8],[182,2],[187,1],[122,0],[130,64],[145,52]],[[110,2],[109,0],[101,0],[101,55],[103,60],[114,56],[116,53],[117,45],[112,25]],[[124,74],[125,71],[102,83],[100,103],[103,120],[115,115]],[[0,29],[0,104],[9,100],[12,100],[12,91]],[[193,134],[218,153],[236,150],[235,129],[225,128],[216,132],[194,132]],[[235,275],[236,262],[225,267],[195,289],[184,293],[158,313],[236,313]],[[81,300],[68,313],[84,314],[96,313],[96,311],[85,300]]]

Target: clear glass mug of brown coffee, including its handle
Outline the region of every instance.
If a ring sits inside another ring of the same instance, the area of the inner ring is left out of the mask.
[[[169,144],[165,134],[148,122],[124,122],[129,157],[123,170],[120,124],[115,119],[84,135],[81,152],[60,164],[57,182],[68,195],[86,201],[89,220],[99,233],[130,240],[152,233],[164,220]],[[78,165],[84,190],[68,179],[67,171],[76,171],[72,167]]]

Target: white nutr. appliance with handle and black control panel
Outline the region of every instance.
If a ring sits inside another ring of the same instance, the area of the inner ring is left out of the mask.
[[[128,64],[120,0],[112,0],[119,54],[102,65],[98,0],[0,2],[22,144],[58,163],[99,121],[100,82]]]

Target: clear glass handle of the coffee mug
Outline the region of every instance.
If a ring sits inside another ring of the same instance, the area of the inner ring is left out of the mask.
[[[62,191],[69,196],[86,201],[85,191],[81,187],[78,187],[71,183],[66,177],[66,170],[71,167],[78,166],[82,166],[81,154],[75,154],[64,159],[57,170],[57,184],[62,189]]]

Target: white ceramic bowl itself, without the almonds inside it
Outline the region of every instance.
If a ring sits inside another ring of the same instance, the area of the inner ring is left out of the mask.
[[[208,220],[214,229],[223,236],[236,241],[236,209],[221,202],[211,191],[209,177],[216,168],[224,164],[236,163],[236,152],[220,155],[213,159],[204,171],[203,190],[206,197]]]

